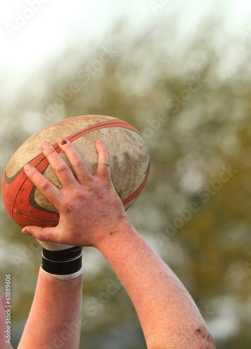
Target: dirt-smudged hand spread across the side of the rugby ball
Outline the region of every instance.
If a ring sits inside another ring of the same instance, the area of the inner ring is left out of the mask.
[[[42,151],[55,170],[62,188],[57,188],[30,165],[25,165],[24,170],[59,211],[59,224],[54,228],[27,226],[22,232],[42,242],[99,248],[99,243],[106,236],[119,232],[122,225],[129,224],[110,177],[106,145],[101,140],[96,141],[98,165],[92,176],[71,142],[62,139],[58,144],[69,159],[75,175],[50,144],[44,143]]]

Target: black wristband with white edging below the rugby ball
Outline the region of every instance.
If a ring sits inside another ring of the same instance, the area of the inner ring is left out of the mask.
[[[83,247],[80,246],[59,251],[50,251],[43,247],[42,269],[49,274],[74,274],[82,268],[82,255]]]

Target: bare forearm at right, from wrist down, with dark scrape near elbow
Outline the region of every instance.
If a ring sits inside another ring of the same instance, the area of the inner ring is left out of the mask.
[[[189,293],[128,223],[99,245],[138,313],[148,348],[215,348]]]

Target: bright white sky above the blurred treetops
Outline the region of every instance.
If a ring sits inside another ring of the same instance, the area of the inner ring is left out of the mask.
[[[76,33],[78,38],[95,43],[120,17],[127,17],[135,30],[178,9],[185,33],[196,28],[196,22],[203,20],[212,6],[223,13],[224,4],[226,1],[215,0],[2,1],[0,71],[22,75],[60,52],[76,39]],[[238,30],[248,30],[251,2],[230,0],[227,4],[230,15],[226,24],[236,35]]]

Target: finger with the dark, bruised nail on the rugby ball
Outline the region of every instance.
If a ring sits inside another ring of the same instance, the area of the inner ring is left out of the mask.
[[[64,154],[66,154],[68,160],[70,161],[79,183],[84,184],[88,179],[91,179],[91,172],[89,172],[85,161],[80,156],[73,144],[66,140],[66,138],[62,138],[58,143],[59,147],[62,149],[62,151],[64,151]]]

